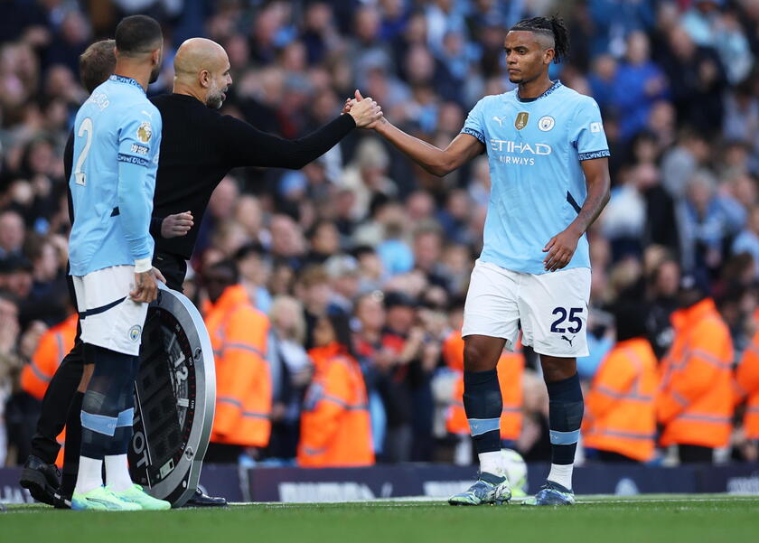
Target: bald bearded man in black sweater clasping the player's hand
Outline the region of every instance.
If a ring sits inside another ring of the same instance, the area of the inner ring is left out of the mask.
[[[232,83],[230,61],[218,43],[203,38],[183,42],[174,57],[174,73],[173,93],[153,98],[161,112],[163,130],[151,234],[155,238],[154,266],[166,278],[167,286],[181,292],[186,260],[192,256],[211,193],[232,168],[300,169],[326,153],[354,128],[370,126],[381,117],[381,110],[376,102],[366,98],[349,113],[336,117],[309,136],[286,140],[217,111]],[[70,164],[70,154],[65,158]],[[162,233],[168,230],[183,237],[168,241]],[[63,402],[68,405],[67,400],[73,397],[75,390],[75,386],[61,386],[54,393],[49,390],[42,404],[41,419],[58,417],[62,428],[66,414],[46,413],[45,407],[50,406],[48,410],[51,410],[53,405],[61,406]],[[47,401],[48,396],[58,401]],[[75,418],[70,417],[70,426],[77,424]],[[54,442],[57,433],[47,436],[48,439]],[[52,469],[36,461],[31,465],[27,461],[26,465],[46,475]],[[223,499],[210,498],[197,491],[188,505],[224,503]]]

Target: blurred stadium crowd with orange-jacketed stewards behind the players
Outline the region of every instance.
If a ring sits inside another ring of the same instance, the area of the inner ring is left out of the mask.
[[[557,9],[573,45],[552,76],[598,101],[612,150],[611,201],[588,234],[585,461],[677,462],[670,445],[682,462],[756,460],[756,0],[5,0],[0,465],[26,458],[72,342],[61,156],[86,98],[78,55],[121,16],[164,24],[151,95],[171,91],[173,51],[202,35],[229,53],[224,114],[293,138],[358,88],[445,146],[479,98],[512,89],[505,29]],[[438,179],[366,130],[300,171],[230,173],[185,284],[222,350],[211,457],[469,463],[459,331],[488,199],[484,155]],[[683,304],[683,283],[701,295]],[[504,353],[501,429],[547,461],[535,361]]]

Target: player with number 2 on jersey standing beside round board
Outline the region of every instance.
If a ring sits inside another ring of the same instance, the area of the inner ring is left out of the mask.
[[[74,124],[70,273],[85,360],[94,371],[81,409],[74,510],[168,509],[129,476],[134,385],[147,304],[155,300],[153,210],[161,114],[145,96],[161,68],[163,35],[145,15],[116,29],[116,70]],[[105,464],[107,486],[101,470]]]

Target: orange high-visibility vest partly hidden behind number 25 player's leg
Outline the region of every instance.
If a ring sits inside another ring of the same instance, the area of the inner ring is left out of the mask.
[[[464,339],[461,332],[451,332],[445,339],[443,357],[449,368],[461,368],[454,385],[454,397],[448,406],[445,428],[451,434],[468,435],[469,421],[464,411]],[[517,351],[501,353],[498,360],[498,382],[501,385],[503,410],[501,411],[501,439],[517,439],[522,424],[522,374],[524,355],[518,345]]]

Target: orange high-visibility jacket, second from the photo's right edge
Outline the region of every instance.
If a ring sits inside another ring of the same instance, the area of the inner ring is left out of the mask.
[[[733,341],[710,298],[672,314],[675,340],[661,365],[656,413],[661,445],[729,444],[734,407]]]

